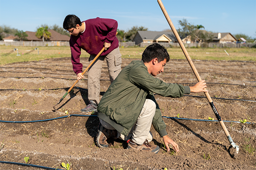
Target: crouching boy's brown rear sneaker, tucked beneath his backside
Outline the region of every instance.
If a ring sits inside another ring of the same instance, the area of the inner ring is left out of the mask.
[[[97,134],[97,145],[99,147],[108,147],[108,142],[107,140],[109,138],[117,139],[117,130],[111,130],[111,129],[106,129],[105,127],[102,126],[102,124],[99,124],[99,129],[98,129],[98,134]]]

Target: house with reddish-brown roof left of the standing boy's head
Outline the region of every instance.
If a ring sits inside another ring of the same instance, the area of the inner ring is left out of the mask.
[[[48,29],[48,31],[52,34],[50,39],[47,41],[69,41],[70,37],[67,35],[62,35],[52,29]],[[36,32],[26,31],[28,34],[27,41],[43,41],[42,39],[35,36]]]

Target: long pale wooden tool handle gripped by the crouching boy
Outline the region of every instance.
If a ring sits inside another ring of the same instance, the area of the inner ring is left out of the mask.
[[[166,17],[167,22],[169,23],[170,27],[172,28],[172,32],[174,33],[178,43],[180,44],[180,47],[181,47],[184,55],[186,56],[186,59],[188,60],[189,65],[190,65],[190,67],[192,68],[192,70],[193,70],[193,72],[195,74],[195,77],[198,79],[198,81],[201,81],[202,79],[201,79],[200,75],[198,74],[198,71],[195,68],[194,63],[192,62],[192,59],[190,58],[188,51],[186,50],[183,42],[181,41],[180,36],[179,36],[177,30],[175,29],[173,23],[172,23],[172,20],[170,19],[169,15],[167,14],[167,11],[166,11],[166,9],[163,6],[162,1],[161,0],[157,0],[157,2],[159,4],[160,8],[162,9],[164,16]],[[229,132],[227,130],[227,127],[224,125],[224,122],[221,120],[221,116],[219,116],[218,111],[217,111],[217,109],[215,108],[215,105],[212,102],[211,96],[209,95],[208,92],[204,92],[204,94],[207,97],[207,99],[208,99],[208,101],[209,101],[209,103],[210,103],[210,105],[212,107],[212,110],[214,111],[215,115],[217,116],[217,119],[220,122],[221,127],[223,128],[226,136],[230,136],[230,134],[229,134]]]

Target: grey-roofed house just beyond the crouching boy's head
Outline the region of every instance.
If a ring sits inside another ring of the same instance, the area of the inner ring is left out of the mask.
[[[153,43],[153,42],[176,42],[175,35],[172,31],[137,31],[133,41],[136,45],[143,43]]]

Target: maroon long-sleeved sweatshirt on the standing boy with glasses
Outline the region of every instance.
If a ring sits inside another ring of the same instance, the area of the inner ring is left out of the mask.
[[[110,48],[101,54],[104,56],[118,47],[116,20],[97,17],[83,22],[85,23],[85,31],[70,37],[71,62],[76,74],[81,73],[83,68],[80,62],[81,48],[90,55],[96,56],[104,47],[104,42],[111,43]]]

